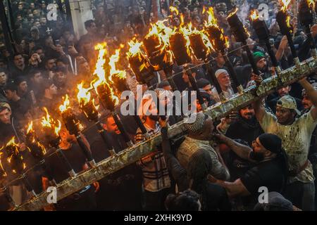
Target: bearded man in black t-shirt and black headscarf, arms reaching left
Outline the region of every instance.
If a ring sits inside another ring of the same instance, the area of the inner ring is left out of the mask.
[[[229,198],[251,195],[254,205],[258,202],[259,188],[265,186],[268,191],[282,192],[287,184],[288,162],[285,150],[282,149],[282,140],[275,134],[261,134],[252,143],[252,148],[236,141],[216,134],[221,143],[225,143],[240,158],[256,163],[239,179],[234,182],[222,181],[209,176],[209,180],[223,186]],[[253,204],[251,207],[253,208]]]

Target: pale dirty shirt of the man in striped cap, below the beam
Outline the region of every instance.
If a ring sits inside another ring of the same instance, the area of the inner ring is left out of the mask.
[[[210,141],[201,141],[186,136],[180,148],[178,148],[177,158],[180,161],[180,165],[187,170],[187,174],[192,174],[192,169],[195,170],[195,174],[197,172],[204,173],[204,168],[197,168],[202,166],[197,160],[199,160],[199,156],[201,155],[205,157],[204,153],[206,152],[209,153],[209,159],[204,159],[204,162],[209,170],[209,174],[215,176],[217,179],[229,179],[230,175],[219,161],[216,150],[211,147]],[[195,163],[195,161],[197,162]]]

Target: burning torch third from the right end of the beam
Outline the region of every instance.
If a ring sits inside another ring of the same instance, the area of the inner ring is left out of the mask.
[[[268,50],[268,55],[271,58],[272,65],[275,68],[277,75],[279,75],[281,72],[280,65],[278,65],[278,60],[276,59],[275,53],[273,52],[273,49],[271,47],[269,41],[270,32],[268,31],[268,27],[266,26],[265,21],[259,18],[259,14],[255,10],[251,13],[251,20],[253,21],[252,25],[256,32],[256,35],[266,44],[266,49]]]

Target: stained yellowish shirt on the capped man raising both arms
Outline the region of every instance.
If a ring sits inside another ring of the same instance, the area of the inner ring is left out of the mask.
[[[311,111],[297,118],[290,125],[278,123],[275,115],[266,112],[260,122],[261,127],[266,133],[276,134],[282,139],[282,148],[288,156],[290,170],[302,167],[308,157],[311,134],[316,127],[317,120],[313,120]],[[290,183],[302,181],[309,183],[313,181],[313,168],[311,162],[297,176],[290,177]]]

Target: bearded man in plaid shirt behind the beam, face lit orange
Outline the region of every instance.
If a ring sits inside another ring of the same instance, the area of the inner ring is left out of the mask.
[[[144,112],[144,110],[146,111]],[[160,131],[157,111],[151,95],[144,95],[138,115],[142,115],[144,127],[149,135],[157,134]],[[144,140],[146,137],[142,134],[141,129],[137,129],[135,142]],[[144,156],[137,162],[137,165],[142,168],[145,210],[164,210],[164,201],[170,193],[170,176],[161,147],[155,146],[154,148],[156,150]]]

